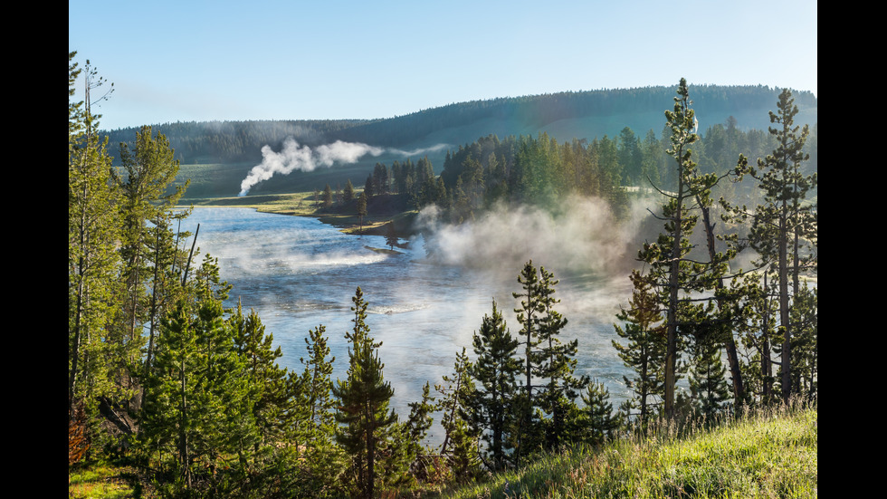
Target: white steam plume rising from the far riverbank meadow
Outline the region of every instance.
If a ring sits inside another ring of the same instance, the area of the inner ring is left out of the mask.
[[[446,144],[438,144],[431,148],[413,151],[388,150],[405,156],[415,156],[445,147],[447,147]],[[348,165],[356,163],[367,154],[377,157],[384,152],[386,149],[359,142],[343,142],[342,140],[336,140],[332,144],[324,144],[312,150],[308,146],[300,146],[296,139],[288,137],[283,141],[283,149],[280,152],[275,152],[271,146],[262,147],[262,163],[254,166],[246,178],[243,178],[238,196],[246,196],[253,186],[274,175],[289,175],[293,170],[313,171],[319,167],[329,168],[337,163]]]

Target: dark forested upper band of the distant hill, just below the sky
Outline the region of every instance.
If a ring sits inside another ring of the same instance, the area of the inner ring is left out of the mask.
[[[777,92],[765,86],[694,87],[696,101],[707,110],[725,116],[746,109],[767,109]],[[380,147],[413,143],[428,134],[471,125],[481,120],[509,120],[521,127],[541,129],[558,120],[608,117],[657,111],[672,89],[652,86],[636,89],[566,91],[544,95],[453,103],[403,116],[378,120],[247,120],[156,123],[176,150],[182,163],[236,163],[261,161],[262,146],[279,149],[287,137],[311,147],[340,139]],[[806,107],[815,107],[815,96],[799,92]],[[749,124],[745,124],[749,127]],[[645,128],[645,127],[644,127]],[[750,128],[758,128],[751,126]],[[135,138],[138,127],[108,130],[110,153]]]

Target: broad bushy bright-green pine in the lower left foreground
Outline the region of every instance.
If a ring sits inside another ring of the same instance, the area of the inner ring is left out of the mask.
[[[180,300],[161,323],[140,426],[148,456],[175,456],[189,490],[198,475],[218,486],[226,456],[251,447],[256,433],[243,358],[223,316],[229,287],[215,260],[205,258],[193,285],[193,301]]]

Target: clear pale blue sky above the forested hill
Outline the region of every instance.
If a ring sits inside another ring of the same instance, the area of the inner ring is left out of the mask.
[[[817,97],[815,0],[69,0],[100,127],[402,116],[560,91],[765,85]],[[82,100],[81,87],[73,100]]]

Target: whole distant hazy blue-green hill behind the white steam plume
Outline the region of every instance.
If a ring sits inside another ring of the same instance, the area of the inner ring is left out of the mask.
[[[722,124],[731,116],[740,130],[767,130],[768,111],[776,109],[779,89],[767,86],[691,87],[700,130]],[[427,156],[440,173],[448,150],[494,134],[536,136],[546,132],[558,141],[615,138],[629,127],[640,136],[648,130],[660,136],[663,111],[671,108],[673,87],[560,92],[487,101],[453,103],[378,120],[279,120],[177,122],[153,125],[176,150],[182,163],[179,181],[191,178],[189,198],[230,197],[241,181],[262,162],[262,148],[281,151],[284,140],[317,148],[337,140],[377,148],[355,162],[334,168],[316,168],[275,176],[255,185],[251,195],[304,192],[325,185],[344,186],[350,179],[362,187],[377,162],[390,165]],[[817,121],[817,100],[809,91],[795,93],[800,113],[796,124]],[[110,153],[117,157],[119,142],[135,139],[138,129],[106,131]]]

